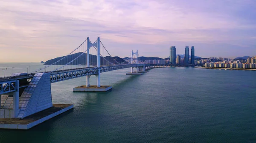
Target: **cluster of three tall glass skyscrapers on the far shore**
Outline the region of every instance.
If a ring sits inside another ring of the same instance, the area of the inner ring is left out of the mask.
[[[191,59],[189,58],[189,46],[185,47],[185,57],[184,61],[182,62],[182,59],[178,55],[176,57],[176,47],[171,46],[170,47],[170,63],[171,64],[179,64],[179,63],[185,63],[185,64],[195,64],[195,49],[194,46],[191,47]]]

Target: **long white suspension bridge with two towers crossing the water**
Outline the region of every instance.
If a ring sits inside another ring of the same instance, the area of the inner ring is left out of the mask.
[[[54,106],[51,83],[86,76],[86,85],[76,87],[73,91],[107,91],[112,87],[100,84],[100,74],[125,68],[131,68],[131,72],[127,74],[142,74],[145,70],[154,68],[154,65],[141,63],[138,51],[131,51],[125,60],[112,57],[99,37],[93,43],[87,37],[72,52],[49,60],[41,69],[0,77],[0,119],[23,119],[51,109]],[[96,75],[97,85],[90,85],[91,75]],[[6,127],[0,124],[0,128]]]

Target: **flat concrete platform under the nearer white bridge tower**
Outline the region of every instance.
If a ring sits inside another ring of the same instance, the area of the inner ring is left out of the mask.
[[[107,92],[112,89],[112,86],[100,86],[97,87],[95,85],[86,87],[86,86],[78,86],[73,88],[73,92]]]

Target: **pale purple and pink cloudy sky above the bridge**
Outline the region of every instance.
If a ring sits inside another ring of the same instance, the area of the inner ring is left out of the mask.
[[[256,0],[1,0],[0,62],[64,56],[87,37],[112,56],[256,56]]]

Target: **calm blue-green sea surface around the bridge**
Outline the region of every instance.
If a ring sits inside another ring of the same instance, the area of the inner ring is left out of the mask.
[[[0,63],[0,76],[28,66],[42,64]],[[27,131],[0,129],[0,143],[256,143],[256,71],[126,72],[101,74],[101,84],[113,86],[106,93],[73,92],[85,77],[52,83],[53,103],[74,109]]]

